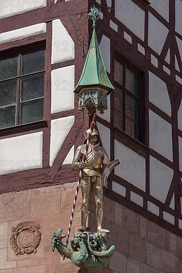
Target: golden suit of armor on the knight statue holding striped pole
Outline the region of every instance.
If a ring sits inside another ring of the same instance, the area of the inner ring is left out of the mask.
[[[85,142],[88,137],[89,129],[85,131]],[[109,163],[109,157],[105,148],[98,143],[99,135],[94,129],[90,139],[90,146],[87,152],[85,163],[82,162],[82,156],[85,151],[85,145],[79,146],[75,152],[72,169],[82,169],[81,191],[82,191],[82,205],[81,205],[81,229],[86,230],[86,220],[89,212],[89,196],[90,190],[93,187],[95,202],[96,202],[96,217],[97,217],[97,231],[109,232],[102,228],[103,220],[103,182],[101,166],[106,167]]]

